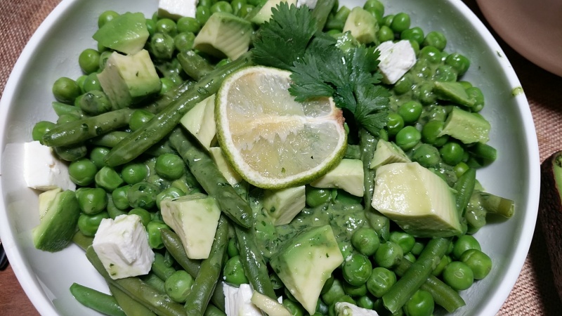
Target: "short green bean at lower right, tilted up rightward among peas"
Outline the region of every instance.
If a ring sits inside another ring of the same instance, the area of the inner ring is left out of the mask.
[[[402,308],[408,298],[419,289],[421,284],[426,282],[433,268],[445,255],[449,244],[450,239],[448,238],[433,238],[428,242],[417,261],[412,263],[412,266],[382,297],[384,306],[388,310],[397,312]]]

